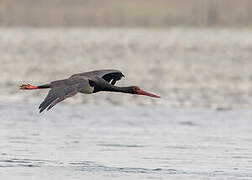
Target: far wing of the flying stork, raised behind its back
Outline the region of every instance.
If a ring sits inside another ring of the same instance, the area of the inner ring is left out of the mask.
[[[97,70],[97,71],[90,71],[85,73],[74,74],[71,77],[75,76],[85,76],[87,78],[94,78],[99,77],[103,78],[107,82],[115,85],[116,81],[119,81],[124,75],[121,71],[115,69],[105,69],[105,70]]]

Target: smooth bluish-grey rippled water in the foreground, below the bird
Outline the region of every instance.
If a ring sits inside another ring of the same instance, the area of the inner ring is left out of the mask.
[[[250,179],[252,112],[0,106],[1,179]]]

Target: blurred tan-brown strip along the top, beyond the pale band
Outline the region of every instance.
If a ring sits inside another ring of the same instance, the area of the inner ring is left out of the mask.
[[[250,0],[1,0],[0,23],[34,27],[243,27]]]

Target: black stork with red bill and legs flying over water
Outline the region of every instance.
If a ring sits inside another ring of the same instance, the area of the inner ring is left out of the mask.
[[[50,89],[44,101],[39,105],[40,113],[45,109],[47,109],[47,111],[50,110],[59,102],[76,95],[78,92],[92,94],[100,91],[110,91],[160,98],[160,96],[143,91],[138,86],[115,86],[115,83],[122,77],[124,77],[124,75],[118,70],[96,70],[74,74],[67,79],[52,81],[48,84],[39,86],[23,84],[20,86],[20,89]]]

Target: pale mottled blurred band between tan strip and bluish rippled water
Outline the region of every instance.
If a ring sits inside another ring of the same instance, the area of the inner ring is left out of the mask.
[[[45,83],[73,73],[113,68],[163,99],[99,93],[65,103],[251,109],[252,31],[217,29],[0,28],[0,100],[40,103]]]

